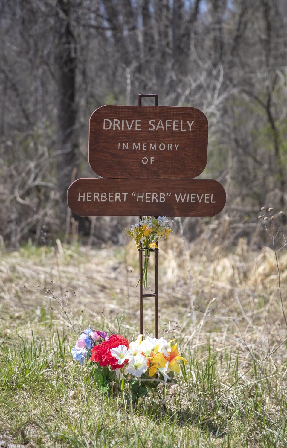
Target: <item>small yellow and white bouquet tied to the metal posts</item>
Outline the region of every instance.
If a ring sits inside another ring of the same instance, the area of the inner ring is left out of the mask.
[[[158,249],[157,242],[159,238],[166,240],[171,234],[171,225],[173,220],[168,219],[167,216],[144,216],[139,225],[132,225],[131,229],[126,229],[127,235],[133,238],[137,249],[141,247],[145,249],[145,263],[142,269],[142,286],[147,286],[147,268],[150,260],[150,249]],[[138,282],[137,282],[138,284]]]

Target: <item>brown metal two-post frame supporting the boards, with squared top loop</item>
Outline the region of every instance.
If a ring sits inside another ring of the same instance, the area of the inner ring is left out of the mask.
[[[154,98],[155,106],[158,106],[158,95],[152,95],[152,94],[140,94],[138,95],[138,105],[141,106],[141,98],[142,97],[152,97]],[[157,218],[157,216],[155,216]],[[141,221],[141,216],[139,216],[139,225]],[[157,241],[158,244],[158,241]],[[154,330],[154,336],[158,338],[158,249],[147,249],[150,252],[155,253],[155,263],[154,263],[154,277],[155,277],[155,286],[154,286],[154,293],[150,294],[144,294],[143,293],[143,287],[142,287],[142,252],[146,250],[147,248],[142,247],[142,244],[140,245],[140,334],[143,335],[143,299],[148,297],[154,297],[154,312],[155,312],[155,330]]]

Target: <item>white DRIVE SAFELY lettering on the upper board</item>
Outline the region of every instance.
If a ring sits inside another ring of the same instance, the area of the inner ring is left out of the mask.
[[[114,118],[110,120],[109,118],[103,119],[103,130],[104,131],[141,131],[142,120],[118,120]],[[191,132],[191,127],[194,123],[189,120],[150,120],[149,121],[149,131],[181,131]]]

